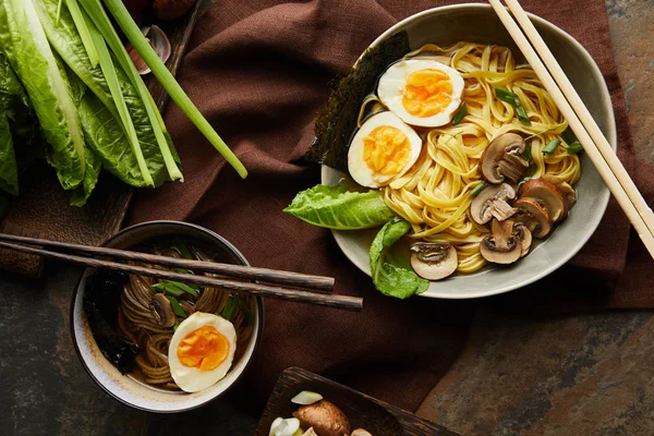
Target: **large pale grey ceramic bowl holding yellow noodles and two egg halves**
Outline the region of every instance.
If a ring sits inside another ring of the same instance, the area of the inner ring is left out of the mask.
[[[606,83],[600,69],[570,35],[554,24],[530,15],[549,49],[574,85],[611,146],[616,147],[616,126]],[[411,49],[434,43],[440,46],[458,41],[493,44],[520,51],[489,5],[458,4],[431,9],[412,15],[379,36],[372,47],[399,31],[407,31]],[[568,262],[591,238],[608,204],[609,192],[588,156],[581,157],[582,175],[574,185],[578,203],[570,216],[544,242],[510,267],[487,266],[470,274],[456,274],[433,281],[421,295],[440,299],[471,299],[507,292],[545,277]],[[335,184],[342,174],[323,167],[322,183]],[[334,231],[337,243],[360,269],[371,274],[368,250],[377,229]]]

